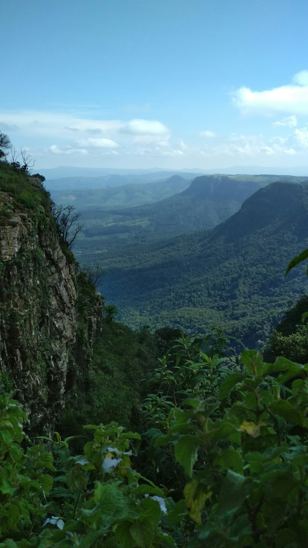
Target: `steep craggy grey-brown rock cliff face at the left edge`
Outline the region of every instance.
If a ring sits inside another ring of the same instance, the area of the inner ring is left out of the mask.
[[[20,207],[5,192],[0,261],[0,383],[5,391],[20,390],[31,432],[49,433],[74,386],[78,362],[87,367],[102,301],[96,297],[79,321],[76,263],[60,243],[54,219],[42,206]]]

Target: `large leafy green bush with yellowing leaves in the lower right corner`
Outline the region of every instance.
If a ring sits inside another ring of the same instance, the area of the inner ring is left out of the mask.
[[[285,358],[264,363],[258,351],[244,350],[242,372],[230,372],[221,369],[217,355],[211,359],[199,351],[199,384],[193,386],[195,374],[185,366],[195,364],[199,343],[192,342],[193,361],[187,359],[188,343],[186,339],[179,345],[179,363],[186,353],[179,369],[161,367],[157,372],[161,406],[159,415],[150,415],[149,431],[154,458],[166,468],[174,454],[186,478],[184,499],[176,505],[185,532],[183,546],[305,545],[308,366]],[[175,395],[184,394],[170,393],[169,386],[181,389],[181,375],[186,375],[190,397],[175,407]],[[292,390],[283,387],[289,381]]]

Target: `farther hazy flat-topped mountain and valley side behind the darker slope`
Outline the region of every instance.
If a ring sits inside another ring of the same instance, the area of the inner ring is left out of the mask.
[[[196,177],[186,188],[188,181],[183,183],[181,178],[173,176],[165,183],[66,194],[56,191],[53,198],[63,204],[71,201],[82,213],[84,230],[75,247],[78,260],[96,261],[97,254],[103,253],[104,261],[115,267],[127,262],[124,255],[127,246],[132,244],[138,247],[146,242],[152,247],[161,239],[198,229],[212,229],[236,213],[248,196],[276,179],[280,177],[203,175]],[[305,178],[290,177],[287,180],[302,182]],[[184,185],[185,189],[175,193],[179,185]],[[151,203],[155,192],[166,194],[172,188],[173,196]],[[132,207],[138,201],[144,205]],[[130,207],[125,207],[128,205]]]

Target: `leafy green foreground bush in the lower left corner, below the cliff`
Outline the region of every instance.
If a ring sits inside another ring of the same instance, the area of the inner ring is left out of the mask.
[[[58,432],[41,437],[51,451],[30,444],[24,421],[19,403],[0,396],[2,548],[174,546],[161,529],[163,491],[131,466],[138,434],[114,422],[86,426],[94,439],[73,457]]]

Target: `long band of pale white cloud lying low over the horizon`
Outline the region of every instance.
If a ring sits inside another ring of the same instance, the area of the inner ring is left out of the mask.
[[[296,85],[304,85],[306,76],[308,78],[308,71],[298,73],[294,79]],[[308,151],[307,124],[300,123],[300,117],[293,113],[277,118],[274,122],[264,123],[262,134],[223,134],[206,129],[187,135],[183,128],[183,133],[173,135],[172,129],[157,119],[95,119],[61,112],[0,111],[0,129],[12,128],[14,146],[29,147],[33,156],[41,157],[42,161],[45,157],[47,163],[52,162],[52,157],[64,162],[67,156],[71,156],[72,162],[77,164],[78,158],[84,158],[89,165],[100,165],[100,158],[117,158],[116,165],[123,167],[132,162],[129,157],[138,156],[141,164],[141,158],[146,157],[152,157],[154,163],[156,158],[166,158],[166,162],[168,157],[178,158],[177,165],[182,167],[195,167],[199,162],[203,162],[204,167],[210,167],[213,158],[215,164],[222,164],[223,167],[230,157],[236,163],[249,158],[249,161],[263,165],[269,157],[275,159],[278,165],[286,158],[296,156],[300,161],[305,161]]]

